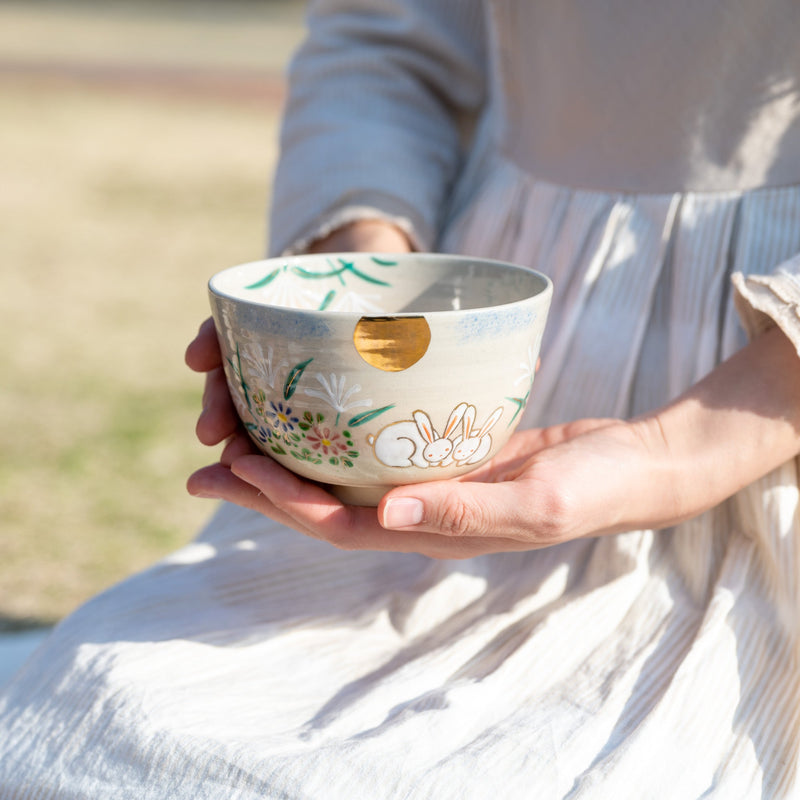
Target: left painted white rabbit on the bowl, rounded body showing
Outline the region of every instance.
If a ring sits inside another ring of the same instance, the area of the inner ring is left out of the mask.
[[[466,410],[466,403],[453,409],[442,436],[424,411],[415,411],[413,421],[402,420],[387,425],[377,436],[369,436],[367,441],[374,448],[378,461],[388,467],[436,466],[453,452],[454,445],[449,436]]]

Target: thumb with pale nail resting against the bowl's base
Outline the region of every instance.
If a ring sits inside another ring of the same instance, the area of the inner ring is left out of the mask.
[[[527,538],[530,526],[513,482],[433,481],[393,489],[378,505],[378,520],[389,530],[445,536]]]

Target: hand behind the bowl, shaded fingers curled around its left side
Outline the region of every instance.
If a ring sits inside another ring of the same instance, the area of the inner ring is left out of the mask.
[[[411,243],[400,228],[379,219],[365,219],[337,228],[328,236],[318,239],[309,247],[310,253],[407,253]],[[230,439],[239,428],[239,418],[231,401],[222,354],[217,341],[214,321],[209,318],[200,326],[195,339],[186,349],[186,363],[195,372],[204,373],[203,410],[197,420],[197,438],[213,446]],[[239,442],[245,441],[240,437]],[[232,455],[243,455],[241,444],[237,452],[226,452],[223,463]],[[252,452],[256,452],[253,449]]]

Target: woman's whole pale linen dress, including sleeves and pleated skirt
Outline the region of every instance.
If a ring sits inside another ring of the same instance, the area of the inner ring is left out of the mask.
[[[773,325],[800,347],[797,4],[674,7],[312,3],[274,251],[385,216],[548,273],[528,425],[661,405]],[[797,797],[799,486],[452,562],[223,505],[8,686],[0,797]]]

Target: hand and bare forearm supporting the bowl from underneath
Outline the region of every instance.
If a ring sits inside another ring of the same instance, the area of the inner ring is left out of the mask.
[[[377,509],[342,505],[255,455],[244,434],[189,491],[346,549],[437,558],[532,549],[711,508],[800,452],[798,398],[800,359],[773,330],[653,414],[519,432],[464,478],[396,488]]]

